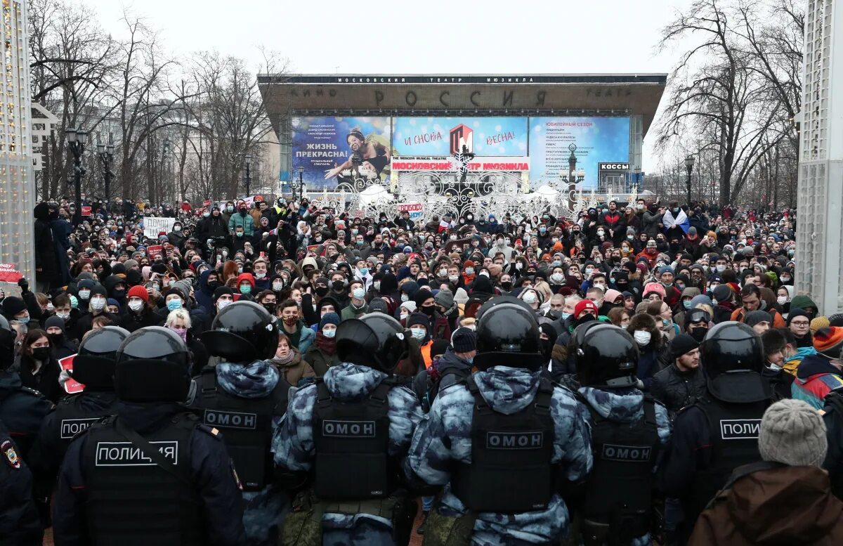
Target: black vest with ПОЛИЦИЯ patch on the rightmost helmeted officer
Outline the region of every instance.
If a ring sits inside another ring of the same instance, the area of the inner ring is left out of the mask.
[[[711,395],[695,404],[702,409],[708,421],[711,467],[698,471],[694,477],[690,512],[686,511],[686,519],[695,519],[706,508],[735,468],[761,460],[758,436],[761,418],[769,404],[770,400],[733,404],[714,399]]]

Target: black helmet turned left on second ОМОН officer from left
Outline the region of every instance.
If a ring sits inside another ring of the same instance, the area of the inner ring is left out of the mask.
[[[407,356],[410,336],[400,322],[384,313],[367,313],[343,320],[336,327],[336,355],[340,361],[392,373]]]

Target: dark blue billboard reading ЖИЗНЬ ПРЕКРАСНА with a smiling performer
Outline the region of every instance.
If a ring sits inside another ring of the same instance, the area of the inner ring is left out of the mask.
[[[294,117],[293,179],[304,168],[308,191],[345,179],[388,179],[389,117]]]

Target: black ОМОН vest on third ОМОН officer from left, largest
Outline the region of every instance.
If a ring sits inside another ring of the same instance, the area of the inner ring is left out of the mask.
[[[544,510],[555,489],[553,387],[541,380],[533,402],[513,415],[486,404],[474,377],[466,386],[475,399],[471,417],[471,463],[460,463],[451,490],[472,511],[520,513]]]

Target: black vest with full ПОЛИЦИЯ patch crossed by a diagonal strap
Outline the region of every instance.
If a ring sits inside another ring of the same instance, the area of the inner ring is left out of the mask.
[[[191,484],[191,436],[195,415],[174,415],[164,428],[144,435],[174,465],[158,466],[106,417],[86,431],[83,452],[88,527],[97,546],[201,546],[201,498]]]

